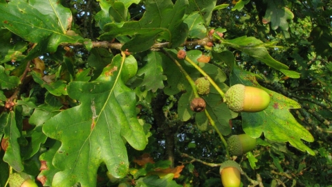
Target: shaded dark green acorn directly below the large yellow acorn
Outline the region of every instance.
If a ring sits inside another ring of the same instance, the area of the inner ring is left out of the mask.
[[[255,148],[256,139],[248,136],[248,134],[239,134],[230,136],[227,143],[231,155],[241,156]]]

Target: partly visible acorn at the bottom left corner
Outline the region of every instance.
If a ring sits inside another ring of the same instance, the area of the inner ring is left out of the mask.
[[[15,172],[9,176],[10,187],[37,187],[35,181],[25,172]]]

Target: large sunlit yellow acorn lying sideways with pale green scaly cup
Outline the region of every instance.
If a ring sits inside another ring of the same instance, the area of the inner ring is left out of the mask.
[[[268,107],[270,95],[257,87],[235,84],[226,91],[225,103],[234,112],[261,112]]]

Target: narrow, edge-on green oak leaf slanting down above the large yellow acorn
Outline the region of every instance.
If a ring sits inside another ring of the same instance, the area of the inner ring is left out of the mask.
[[[299,73],[288,70],[288,66],[278,62],[270,56],[266,47],[273,47],[273,44],[263,43],[255,37],[242,36],[235,39],[223,39],[219,37],[219,35],[214,35],[214,37],[221,39],[224,45],[232,46],[239,51],[247,53],[248,55],[255,57],[257,60],[264,62],[266,65],[281,71],[290,78],[299,78]]]

